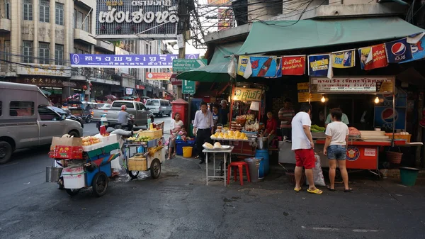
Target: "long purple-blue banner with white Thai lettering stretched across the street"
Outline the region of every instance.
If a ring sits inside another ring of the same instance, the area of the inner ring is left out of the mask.
[[[171,55],[101,55],[70,54],[72,67],[96,68],[171,68],[173,60],[179,56]],[[186,59],[197,59],[199,54],[188,54]]]

